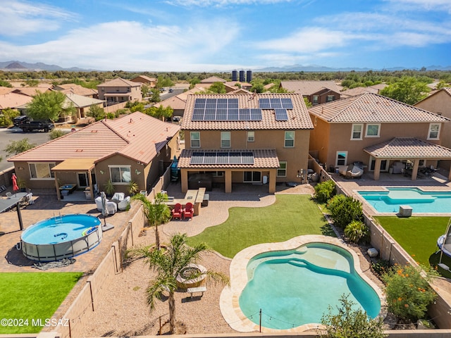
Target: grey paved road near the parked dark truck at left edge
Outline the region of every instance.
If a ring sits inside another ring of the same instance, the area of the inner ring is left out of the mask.
[[[0,171],[3,171],[7,168],[13,166],[13,163],[6,161],[11,156],[8,156],[4,151],[5,147],[11,141],[19,141],[20,139],[28,139],[28,142],[34,144],[43,144],[49,141],[49,133],[48,132],[23,132],[21,129],[17,127],[13,128],[0,128],[0,156],[3,158],[0,162]]]

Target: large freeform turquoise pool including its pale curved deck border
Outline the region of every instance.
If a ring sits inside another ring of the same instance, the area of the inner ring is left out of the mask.
[[[259,330],[260,309],[262,332],[302,332],[318,327],[328,306],[335,310],[346,294],[374,318],[382,294],[358,262],[338,239],[320,235],[251,246],[230,264],[230,291],[221,294],[221,312],[240,332]]]

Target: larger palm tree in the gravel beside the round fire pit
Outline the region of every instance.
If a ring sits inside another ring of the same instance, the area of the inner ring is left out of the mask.
[[[187,245],[187,234],[174,234],[170,239],[170,244],[165,249],[155,250],[151,246],[144,246],[131,251],[132,254],[141,255],[145,258],[145,263],[149,268],[156,271],[155,279],[150,280],[147,287],[147,305],[150,311],[155,308],[156,299],[161,300],[163,291],[169,293],[169,326],[171,333],[175,333],[175,299],[174,292],[177,290],[177,276],[183,272],[191,263],[199,259],[202,252],[208,252],[205,243],[197,244],[194,247]],[[206,275],[206,280],[214,280],[222,284],[228,284],[228,277],[222,273],[211,270],[191,275],[192,278]]]

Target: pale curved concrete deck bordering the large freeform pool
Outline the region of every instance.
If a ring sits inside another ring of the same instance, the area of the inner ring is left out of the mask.
[[[259,253],[264,253],[268,251],[280,251],[280,250],[290,250],[296,249],[299,246],[304,244],[320,242],[320,243],[328,243],[334,244],[336,246],[340,246],[345,249],[349,253],[352,254],[352,258],[354,261],[355,271],[359,274],[362,279],[368,283],[374,291],[381,299],[381,315],[386,315],[385,313],[385,301],[381,289],[367,277],[360,266],[360,259],[357,256],[355,251],[349,249],[349,247],[343,242],[341,239],[337,239],[335,237],[328,237],[322,235],[304,235],[289,239],[285,242],[277,242],[277,243],[264,243],[257,244],[254,246],[249,246],[246,249],[243,249],[239,253],[235,255],[232,262],[230,263],[230,287],[226,287],[223,289],[220,298],[220,307],[221,313],[223,314],[224,319],[232,327],[234,330],[239,332],[255,332],[259,331],[259,325],[253,323],[247,316],[242,313],[240,308],[240,295],[245,289],[247,280],[247,264],[249,260],[254,256],[257,256]],[[316,330],[321,328],[321,324],[319,323],[311,323],[300,325],[298,327],[293,327],[292,329],[285,330],[276,330],[268,327],[261,327],[261,332],[306,332],[309,330]]]

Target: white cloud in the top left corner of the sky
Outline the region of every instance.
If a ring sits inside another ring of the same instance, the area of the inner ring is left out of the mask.
[[[0,35],[20,36],[58,30],[62,20],[73,20],[75,15],[54,6],[12,0],[0,6],[0,18]]]

